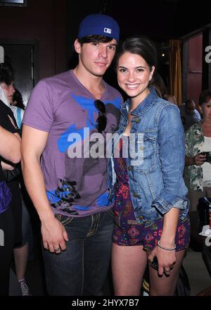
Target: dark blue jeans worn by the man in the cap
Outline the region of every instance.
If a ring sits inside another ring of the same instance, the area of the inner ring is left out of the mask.
[[[113,211],[83,218],[61,216],[68,233],[61,254],[44,250],[46,285],[50,295],[100,294],[110,262]]]

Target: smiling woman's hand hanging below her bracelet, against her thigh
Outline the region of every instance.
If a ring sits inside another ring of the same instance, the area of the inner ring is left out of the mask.
[[[148,260],[153,261],[154,256],[158,259],[158,274],[163,275],[163,273],[165,273],[165,275],[170,275],[172,268],[174,268],[174,263],[176,262],[175,250],[168,251],[166,249],[161,249],[157,245],[148,255]]]

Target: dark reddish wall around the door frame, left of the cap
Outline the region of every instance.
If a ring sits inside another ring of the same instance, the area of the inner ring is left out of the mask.
[[[39,40],[39,78],[67,67],[66,0],[28,0],[27,7],[0,6],[1,38]]]

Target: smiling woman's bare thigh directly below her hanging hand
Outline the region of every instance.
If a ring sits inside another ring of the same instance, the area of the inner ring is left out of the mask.
[[[149,263],[150,275],[150,295],[151,296],[173,296],[179,277],[179,270],[184,258],[186,250],[176,252],[176,263],[174,268],[170,271],[170,276],[165,273],[162,277],[158,276],[158,271],[155,271]]]

